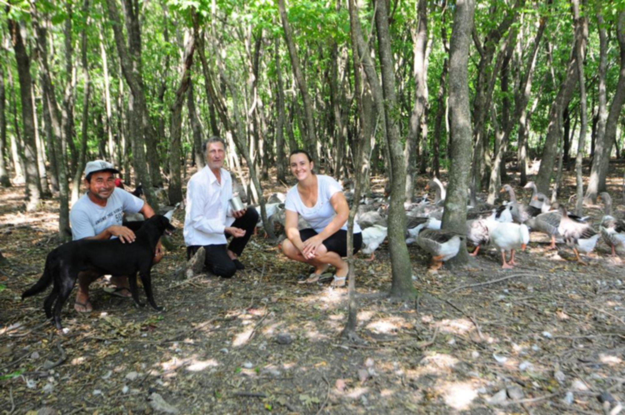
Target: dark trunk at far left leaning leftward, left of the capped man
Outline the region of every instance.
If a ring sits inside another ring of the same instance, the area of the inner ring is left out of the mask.
[[[26,211],[32,212],[41,202],[41,181],[37,169],[37,146],[35,144],[34,114],[32,113],[31,62],[24,41],[22,27],[13,19],[8,19],[9,34],[15,51],[19,95],[22,101],[22,125],[24,126],[24,164],[26,173]]]

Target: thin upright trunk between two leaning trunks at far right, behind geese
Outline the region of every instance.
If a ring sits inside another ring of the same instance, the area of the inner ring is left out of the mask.
[[[586,41],[588,39],[588,19],[580,17],[579,0],[572,0],[573,16],[575,20],[575,37],[577,39],[575,54],[577,55],[577,77],[579,78],[579,141],[577,141],[577,157],[575,158],[575,173],[577,181],[576,214],[582,216],[584,204],[584,178],[582,177],[582,162],[586,150],[586,129],[588,126],[586,114],[586,79],[584,79],[584,54],[586,53]],[[584,1],[584,6],[587,2]]]

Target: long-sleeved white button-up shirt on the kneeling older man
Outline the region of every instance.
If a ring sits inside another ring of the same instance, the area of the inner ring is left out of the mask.
[[[184,215],[186,246],[226,243],[224,229],[234,222],[231,198],[232,178],[226,170],[221,169],[221,183],[208,166],[191,176]]]

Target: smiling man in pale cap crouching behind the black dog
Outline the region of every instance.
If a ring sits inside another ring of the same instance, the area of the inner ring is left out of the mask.
[[[154,215],[154,209],[143,199],[115,186],[114,174],[119,173],[113,164],[103,160],[89,161],[84,168],[84,184],[88,191],[69,212],[72,239],[109,239],[119,237],[122,243],[132,243],[134,232],[122,226],[124,212],[141,213],[146,219]],[[163,251],[159,242],[154,263],[161,261]],[[98,279],[95,272],[78,275],[78,294],[74,309],[79,312],[93,310],[89,301],[89,284]],[[116,289],[111,292],[121,297],[131,297],[127,276],[113,276]]]

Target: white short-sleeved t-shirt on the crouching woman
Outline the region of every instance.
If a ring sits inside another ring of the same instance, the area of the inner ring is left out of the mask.
[[[315,232],[319,233],[329,224],[336,211],[330,202],[330,198],[334,196],[336,192],[342,192],[343,189],[334,178],[325,176],[324,174],[317,174],[317,202],[312,207],[307,207],[299,197],[297,191],[297,184],[286,194],[286,202],[284,202],[284,208],[288,211],[297,212],[300,214],[306,222],[310,224]],[[341,229],[347,230],[347,221],[343,224]],[[361,232],[360,226],[354,222],[354,233]]]

